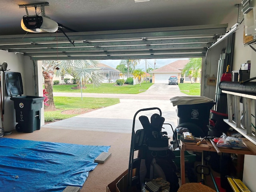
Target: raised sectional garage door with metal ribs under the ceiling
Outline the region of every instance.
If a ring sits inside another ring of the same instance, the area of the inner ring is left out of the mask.
[[[227,24],[0,36],[0,49],[32,60],[204,57]],[[70,41],[69,41],[70,40]]]

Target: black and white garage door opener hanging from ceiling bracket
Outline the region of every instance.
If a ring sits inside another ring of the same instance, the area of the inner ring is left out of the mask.
[[[32,4],[22,4],[19,5],[20,8],[26,9],[26,16],[23,16],[21,20],[21,27],[23,30],[32,32],[32,33],[42,33],[42,32],[50,32],[54,33],[58,30],[58,23],[54,20],[51,20],[49,17],[45,15],[44,6],[49,6],[48,2],[43,3],[32,3]],[[35,10],[37,7],[41,7],[42,16],[36,15],[30,16],[28,14],[28,7],[34,7]]]

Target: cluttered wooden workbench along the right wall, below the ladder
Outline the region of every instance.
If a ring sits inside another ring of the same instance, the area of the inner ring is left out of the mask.
[[[256,145],[250,142],[248,139],[243,138],[244,145],[246,148],[244,149],[232,149],[232,148],[219,148],[222,153],[230,153],[230,154],[238,154],[238,158],[240,162],[244,160],[244,155],[256,155]],[[212,146],[210,141],[203,141],[200,145],[196,145],[193,142],[182,142],[180,141],[180,176],[181,176],[181,184],[185,184],[185,151],[194,151],[194,152],[202,152],[202,151],[211,151],[216,152],[214,147]],[[238,170],[243,170],[244,164],[238,163]],[[241,173],[242,174],[242,173]]]

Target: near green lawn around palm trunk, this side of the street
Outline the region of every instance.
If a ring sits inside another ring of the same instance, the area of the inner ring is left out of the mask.
[[[54,97],[56,111],[44,111],[44,121],[63,120],[77,116],[87,109],[98,109],[120,103],[118,98]],[[74,110],[65,114],[67,110]]]

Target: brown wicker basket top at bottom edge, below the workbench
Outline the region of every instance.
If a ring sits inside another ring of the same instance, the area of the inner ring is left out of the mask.
[[[212,188],[200,183],[186,183],[180,186],[178,192],[216,192]]]

